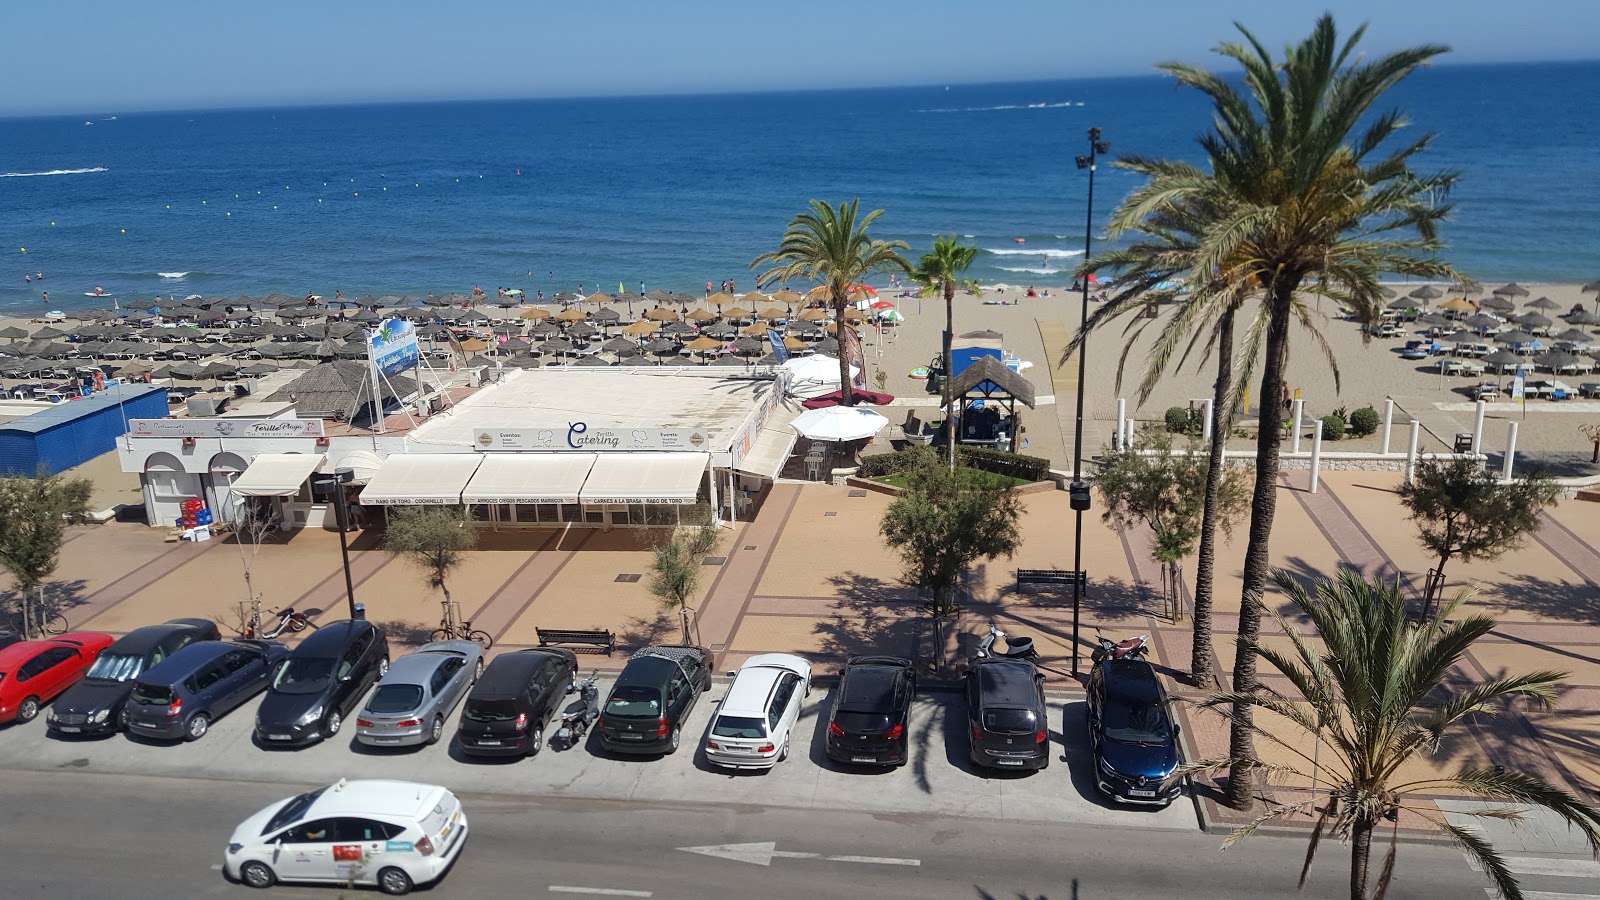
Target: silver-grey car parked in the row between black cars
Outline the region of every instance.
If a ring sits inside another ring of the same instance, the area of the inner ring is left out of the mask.
[[[434,641],[389,665],[355,717],[355,740],[368,746],[438,743],[445,719],[483,674],[477,641]]]

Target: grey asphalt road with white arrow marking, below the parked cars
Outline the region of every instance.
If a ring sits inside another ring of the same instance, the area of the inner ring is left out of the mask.
[[[232,828],[312,785],[0,772],[3,894],[34,897],[259,897],[218,871]],[[426,897],[928,897],[968,900],[1238,900],[1347,895],[1346,849],[1328,841],[1302,894],[1304,842],[1258,836],[1219,852],[1192,830],[1118,830],[942,815],[765,809],[462,794],[472,833],[454,870]],[[770,847],[776,858],[766,858]],[[680,847],[768,862],[742,862]],[[816,854],[814,857],[811,854]],[[824,857],[877,857],[850,862]],[[917,865],[910,865],[915,860]],[[1566,863],[1560,860],[1560,863]],[[1558,890],[1571,878],[1547,876]],[[1600,879],[1595,879],[1600,882]],[[331,898],[331,887],[278,886],[275,898]],[[374,894],[365,894],[368,897]],[[1456,850],[1402,846],[1389,892],[1485,897]]]

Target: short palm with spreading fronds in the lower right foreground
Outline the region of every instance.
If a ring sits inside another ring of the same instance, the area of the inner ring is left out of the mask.
[[[1302,767],[1312,765],[1320,770],[1326,788],[1314,791],[1307,799],[1269,809],[1234,831],[1224,847],[1250,836],[1272,818],[1309,810],[1317,823],[1306,849],[1301,884],[1306,884],[1317,844],[1326,831],[1350,842],[1350,900],[1366,900],[1373,831],[1382,818],[1405,810],[1466,850],[1467,858],[1494,882],[1499,897],[1520,900],[1517,878],[1482,833],[1446,822],[1427,801],[1408,799],[1430,793],[1466,793],[1546,807],[1581,831],[1590,847],[1600,852],[1600,810],[1538,775],[1502,767],[1421,778],[1411,775],[1413,764],[1437,751],[1450,732],[1472,716],[1493,714],[1501,700],[1520,697],[1538,706],[1549,706],[1555,698],[1555,685],[1566,673],[1502,674],[1493,681],[1462,682],[1462,657],[1474,641],[1496,625],[1493,618],[1478,613],[1448,621],[1467,594],[1446,604],[1438,618],[1416,625],[1406,620],[1406,602],[1397,581],[1368,583],[1358,572],[1344,569],[1338,578],[1318,583],[1315,593],[1310,593],[1286,572],[1275,572],[1274,580],[1294,609],[1310,620],[1323,644],[1323,649],[1314,647],[1294,623],[1258,602],[1258,610],[1266,609],[1283,626],[1293,649],[1258,645],[1254,652],[1278,669],[1299,697],[1272,690],[1230,692],[1214,693],[1205,705],[1232,705],[1235,724],[1237,709],[1254,706],[1290,722],[1304,733],[1275,733],[1250,722],[1246,727],[1299,762],[1267,765],[1250,757],[1194,762],[1186,770],[1242,762],[1306,777]],[[1306,738],[1318,743],[1326,740],[1328,753],[1307,754]],[[1315,783],[1315,777],[1312,780]],[[1318,807],[1318,801],[1325,802]],[[1469,815],[1522,818],[1520,812],[1506,807]],[[1395,838],[1390,838],[1389,854],[1373,889],[1376,897],[1382,897],[1389,887],[1395,849]]]

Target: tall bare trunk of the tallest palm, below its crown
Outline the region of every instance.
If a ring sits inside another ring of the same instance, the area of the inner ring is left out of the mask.
[[[1261,601],[1267,586],[1272,540],[1272,517],[1278,504],[1278,445],[1283,434],[1283,368],[1290,356],[1290,296],[1299,277],[1288,280],[1280,275],[1269,293],[1272,320],[1267,325],[1267,359],[1261,372],[1261,415],[1256,436],[1256,485],[1250,500],[1250,544],[1245,548],[1245,589],[1238,602],[1238,636],[1234,647],[1234,692],[1256,690],[1256,641],[1261,637]],[[1229,759],[1234,765],[1227,775],[1227,806],[1248,809],[1253,791],[1253,765],[1256,741],[1251,735],[1253,706],[1234,705],[1234,721],[1229,733]]]

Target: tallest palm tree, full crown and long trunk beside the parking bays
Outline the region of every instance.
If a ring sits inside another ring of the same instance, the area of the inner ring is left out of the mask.
[[[1310,288],[1352,307],[1365,323],[1382,304],[1381,274],[1440,280],[1461,275],[1434,258],[1442,247],[1437,226],[1450,211],[1443,197],[1456,176],[1411,171],[1411,159],[1432,143],[1432,135],[1384,151],[1406,120],[1395,110],[1374,112],[1389,88],[1446,48],[1424,45],[1368,62],[1355,54],[1366,29],[1341,43],[1333,18],[1325,14],[1306,40],[1275,61],[1243,26],[1235,27],[1246,43],[1222,43],[1218,53],[1245,69],[1243,93],[1197,66],[1160,66],[1216,107],[1214,131],[1200,136],[1210,171],[1134,160],[1152,178],[1118,213],[1147,219],[1142,231],[1160,240],[1192,245],[1158,258],[1166,271],[1182,272],[1187,287],[1200,288],[1168,330],[1203,327],[1230,306],[1256,301],[1238,354],[1256,360],[1254,348],[1262,348],[1256,484],[1234,663],[1234,692],[1250,695],[1256,690],[1258,601],[1267,585],[1277,509],[1283,415],[1277,397],[1288,365],[1290,325],[1309,327],[1333,362],[1302,291]],[[1363,130],[1355,133],[1358,125]],[[1184,224],[1194,240],[1171,232],[1174,223]],[[1098,267],[1090,261],[1083,266]],[[1155,272],[1134,272],[1118,282],[1118,295],[1147,291],[1160,280]],[[1338,384],[1338,368],[1334,378]],[[1232,394],[1238,396],[1243,384],[1237,380]],[[1248,703],[1234,713],[1234,759],[1253,754],[1250,716]],[[1248,775],[1248,767],[1229,775],[1227,802],[1237,809],[1251,802]]]

